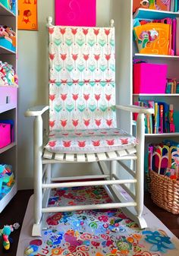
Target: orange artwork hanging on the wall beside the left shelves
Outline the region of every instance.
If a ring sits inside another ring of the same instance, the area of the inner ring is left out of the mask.
[[[37,0],[18,0],[18,30],[38,30]]]

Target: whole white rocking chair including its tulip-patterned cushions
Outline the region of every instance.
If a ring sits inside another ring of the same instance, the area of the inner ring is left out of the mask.
[[[37,106],[26,112],[26,116],[35,117],[32,235],[41,235],[43,213],[118,207],[124,207],[124,213],[145,228],[144,114],[152,114],[153,109],[115,105],[115,28],[58,27],[52,25],[52,17],[48,18],[48,27],[49,106]],[[42,114],[48,109],[49,137],[47,144],[43,144]],[[137,138],[117,128],[116,109],[139,113]],[[134,160],[133,169],[122,160]],[[106,161],[111,161],[109,170]],[[92,162],[99,164],[102,175],[75,177],[73,173],[70,178],[52,178],[54,163]],[[119,179],[116,163],[128,172],[130,179]],[[134,191],[127,186],[132,183]],[[114,203],[47,207],[49,188],[96,185],[105,186]],[[121,185],[130,200],[119,193],[116,185]]]

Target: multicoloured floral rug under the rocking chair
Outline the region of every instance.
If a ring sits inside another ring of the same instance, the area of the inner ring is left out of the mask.
[[[105,189],[52,190],[49,205],[111,202]],[[176,238],[162,229],[139,229],[121,210],[81,210],[46,216],[42,238],[29,241],[30,256],[161,256],[178,255]],[[20,256],[20,254],[17,254]]]

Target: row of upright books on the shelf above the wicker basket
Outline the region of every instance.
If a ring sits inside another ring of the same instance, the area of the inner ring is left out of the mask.
[[[140,100],[134,103],[134,105],[155,109],[153,115],[146,115],[146,134],[175,132],[173,104],[168,105],[167,103],[155,102],[153,100]],[[136,121],[137,115],[133,115],[133,119]]]

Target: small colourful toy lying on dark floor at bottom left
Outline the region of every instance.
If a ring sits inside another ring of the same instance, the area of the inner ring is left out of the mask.
[[[19,223],[14,223],[13,225],[5,225],[3,229],[0,229],[0,235],[2,235],[2,245],[3,248],[5,248],[5,250],[9,250],[10,248],[10,239],[9,239],[9,235],[11,235],[11,232],[14,231],[14,229],[18,229],[19,228]]]

